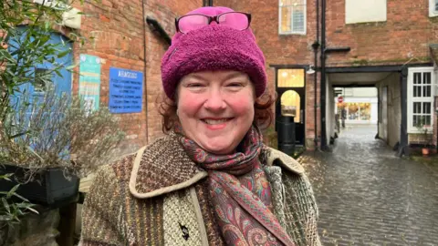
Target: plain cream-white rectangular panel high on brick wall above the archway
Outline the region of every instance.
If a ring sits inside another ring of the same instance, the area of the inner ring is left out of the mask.
[[[386,0],[345,0],[345,23],[386,21]]]

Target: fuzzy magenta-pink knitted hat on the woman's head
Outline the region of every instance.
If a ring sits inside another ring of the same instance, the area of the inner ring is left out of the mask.
[[[213,16],[232,11],[227,7],[201,7],[188,14]],[[162,87],[167,97],[173,98],[184,76],[214,70],[247,74],[254,83],[256,97],[266,90],[265,56],[251,29],[241,31],[221,25],[204,26],[172,37],[172,46],[162,56]]]

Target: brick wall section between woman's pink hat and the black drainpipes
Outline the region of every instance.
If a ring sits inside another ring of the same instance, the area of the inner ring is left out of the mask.
[[[275,68],[272,65],[313,65],[314,53],[311,45],[316,39],[315,1],[308,1],[307,35],[278,35],[278,1],[274,0],[214,0],[214,5],[224,5],[244,11],[253,16],[251,27],[257,44],[266,56],[266,70],[269,87],[275,91]],[[318,55],[319,57],[319,55]],[[317,76],[317,98],[319,98],[320,77],[318,73],[306,76],[306,145],[314,148],[315,138],[315,90],[314,77]],[[318,138],[320,138],[320,108],[317,108]]]

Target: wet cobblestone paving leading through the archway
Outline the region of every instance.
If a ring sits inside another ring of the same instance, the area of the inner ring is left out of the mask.
[[[438,245],[438,163],[399,159],[376,133],[376,126],[348,128],[333,152],[300,158],[323,245]]]

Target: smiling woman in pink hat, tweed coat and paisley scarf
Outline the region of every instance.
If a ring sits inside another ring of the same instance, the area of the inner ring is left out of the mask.
[[[162,58],[168,135],[99,170],[82,245],[320,244],[304,170],[262,143],[273,100],[250,21],[225,7],[176,21]]]

